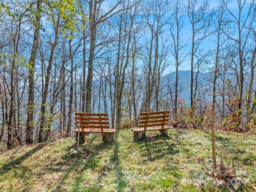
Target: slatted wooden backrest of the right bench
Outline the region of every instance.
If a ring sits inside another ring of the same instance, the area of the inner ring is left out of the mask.
[[[161,126],[163,130],[168,125],[169,114],[170,111],[143,112],[140,114],[139,127],[144,127],[146,131],[147,127]]]

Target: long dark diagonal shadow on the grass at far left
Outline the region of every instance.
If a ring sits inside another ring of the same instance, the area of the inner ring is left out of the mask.
[[[36,147],[34,147],[33,149],[27,151],[27,153],[25,153],[24,155],[22,155],[21,157],[18,157],[17,159],[14,159],[13,161],[4,164],[1,168],[0,168],[0,175],[2,176],[3,174],[9,172],[13,166],[19,167],[20,164],[25,161],[27,158],[29,158],[30,156],[32,156],[33,154],[35,154],[38,150],[42,149],[44,146],[46,145],[46,143],[42,143],[37,145]],[[10,158],[9,158],[10,159]]]

